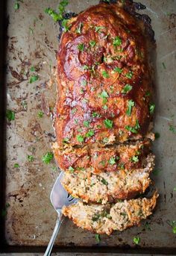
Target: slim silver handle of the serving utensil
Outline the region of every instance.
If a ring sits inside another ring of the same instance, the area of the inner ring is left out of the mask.
[[[60,225],[62,224],[63,222],[63,214],[62,213],[58,213],[58,217],[57,217],[57,221],[56,221],[56,225],[55,225],[55,228],[54,228],[54,231],[53,231],[53,234],[51,236],[51,239],[48,243],[48,247],[45,251],[45,255],[44,256],[49,256],[51,255],[51,250],[53,248],[53,245],[54,245],[54,241],[57,237],[57,234],[58,234],[58,231],[60,229]]]

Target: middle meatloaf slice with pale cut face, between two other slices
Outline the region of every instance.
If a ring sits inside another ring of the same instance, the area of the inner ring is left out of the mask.
[[[118,172],[101,172],[95,175],[87,169],[80,172],[65,172],[62,184],[69,194],[84,202],[116,202],[117,199],[132,199],[144,193],[151,180],[150,172],[154,166],[154,155],[147,158],[144,169]]]

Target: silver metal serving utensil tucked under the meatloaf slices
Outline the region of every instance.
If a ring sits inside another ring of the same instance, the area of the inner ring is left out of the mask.
[[[60,225],[63,222],[63,214],[62,214],[63,205],[66,205],[66,206],[71,205],[75,201],[77,201],[77,199],[74,199],[72,196],[70,196],[66,192],[66,190],[64,190],[62,184],[60,183],[60,180],[63,178],[63,175],[64,175],[63,172],[60,172],[60,175],[57,177],[57,180],[55,181],[54,186],[51,190],[51,195],[50,195],[51,204],[53,205],[54,209],[57,211],[58,217],[57,217],[57,222],[56,222],[53,234],[51,236],[51,240],[48,243],[48,247],[45,251],[44,256],[51,255],[51,250],[53,248],[54,241],[57,237],[58,231],[60,229]]]

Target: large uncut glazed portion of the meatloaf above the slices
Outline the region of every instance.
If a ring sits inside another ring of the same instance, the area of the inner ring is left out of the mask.
[[[154,110],[145,35],[118,4],[69,20],[58,51],[59,146],[144,137]]]

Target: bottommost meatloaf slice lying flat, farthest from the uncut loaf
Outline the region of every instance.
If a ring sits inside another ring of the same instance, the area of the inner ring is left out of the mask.
[[[133,225],[139,225],[142,219],[151,215],[158,194],[151,199],[131,199],[117,202],[115,205],[87,205],[77,202],[63,207],[63,214],[72,219],[78,227],[110,235],[113,231],[123,231]]]

